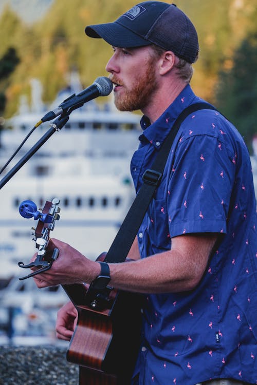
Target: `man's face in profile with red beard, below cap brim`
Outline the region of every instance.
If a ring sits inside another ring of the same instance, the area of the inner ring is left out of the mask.
[[[120,111],[144,110],[157,88],[156,56],[150,47],[117,48],[106,65]]]

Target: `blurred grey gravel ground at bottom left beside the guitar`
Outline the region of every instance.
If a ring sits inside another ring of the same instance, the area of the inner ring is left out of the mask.
[[[0,385],[78,385],[79,367],[57,347],[0,347]]]

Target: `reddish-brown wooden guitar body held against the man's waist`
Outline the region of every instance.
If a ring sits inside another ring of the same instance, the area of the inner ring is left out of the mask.
[[[87,286],[63,288],[79,314],[67,351],[67,360],[80,366],[79,385],[129,385],[140,344],[140,296],[113,289],[96,311],[86,304]]]

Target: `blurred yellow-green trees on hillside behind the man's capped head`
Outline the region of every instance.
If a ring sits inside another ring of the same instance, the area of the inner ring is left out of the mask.
[[[14,47],[21,61],[10,75],[5,116],[16,111],[21,94],[30,97],[31,78],[42,82],[43,98],[49,103],[67,85],[71,69],[78,70],[84,87],[105,75],[112,51],[102,39],[87,37],[85,26],[114,21],[135,4],[135,0],[55,0],[47,14],[33,25],[24,24],[6,7],[0,16],[0,56]],[[176,4],[189,15],[199,36],[200,55],[194,65],[192,86],[196,94],[214,103],[215,86],[221,83],[219,73],[234,68],[234,52],[247,36],[257,32],[257,0],[177,0]],[[235,102],[235,95],[229,100]],[[237,125],[241,115],[235,119]]]

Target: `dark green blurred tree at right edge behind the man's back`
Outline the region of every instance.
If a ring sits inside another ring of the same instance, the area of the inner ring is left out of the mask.
[[[219,74],[216,105],[236,125],[252,152],[257,132],[257,32],[243,40],[232,62],[231,69]]]

